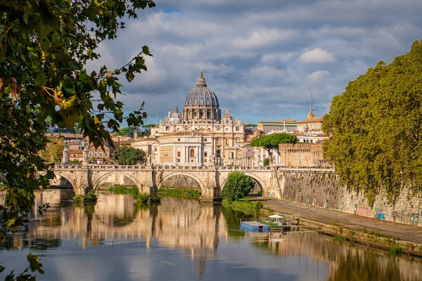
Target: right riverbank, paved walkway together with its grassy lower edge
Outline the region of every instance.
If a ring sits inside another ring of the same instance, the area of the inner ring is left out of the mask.
[[[301,218],[300,223],[313,226],[320,233],[388,251],[422,257],[422,228],[381,221],[340,211],[321,209],[286,200],[266,200],[264,207],[283,215]],[[401,249],[399,249],[401,248]]]

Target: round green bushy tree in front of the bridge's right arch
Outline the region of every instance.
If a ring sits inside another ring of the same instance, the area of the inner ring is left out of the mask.
[[[249,194],[254,184],[250,177],[241,171],[232,171],[227,176],[222,196],[229,201],[236,201]]]

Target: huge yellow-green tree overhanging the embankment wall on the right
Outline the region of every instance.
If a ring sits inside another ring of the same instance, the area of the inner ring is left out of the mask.
[[[415,41],[409,53],[350,81],[324,116],[324,157],[371,205],[380,192],[390,202],[404,188],[421,192],[421,77],[422,41]]]

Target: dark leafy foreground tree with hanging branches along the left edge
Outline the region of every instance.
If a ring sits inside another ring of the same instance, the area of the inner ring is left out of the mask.
[[[116,98],[118,77],[130,82],[146,71],[148,47],[115,70],[103,66],[89,73],[85,65],[98,59],[95,50],[102,41],[117,37],[123,19],[153,6],[151,0],[0,1],[0,189],[6,190],[7,208],[0,242],[6,247],[6,231],[18,230],[32,210],[34,190],[53,178],[38,154],[48,143],[46,118],[51,117],[49,126],[62,129],[74,130],[79,123],[96,148],[113,143],[108,130],[118,131],[123,119],[129,126],[143,123],[143,103],[124,117]],[[42,271],[41,263],[33,264],[36,256],[30,261],[32,271]]]

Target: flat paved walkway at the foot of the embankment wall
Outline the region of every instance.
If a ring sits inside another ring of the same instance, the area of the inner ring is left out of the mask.
[[[335,223],[335,226],[344,226],[347,229],[361,232],[366,228],[368,232],[374,231],[383,235],[399,237],[402,241],[422,244],[422,227],[420,226],[383,221],[378,218],[369,218],[331,209],[322,209],[286,200],[266,200],[263,203],[264,207],[269,207],[281,214],[306,218],[309,221],[316,221],[327,225]]]

